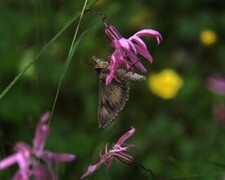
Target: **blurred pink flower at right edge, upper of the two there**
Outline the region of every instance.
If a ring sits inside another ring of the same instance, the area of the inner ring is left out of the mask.
[[[208,88],[212,92],[225,95],[225,77],[220,74],[215,74],[208,79]]]

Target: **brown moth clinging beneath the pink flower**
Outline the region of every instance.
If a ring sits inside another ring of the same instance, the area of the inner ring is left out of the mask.
[[[98,99],[98,126],[107,127],[124,108],[129,98],[128,81],[143,81],[145,76],[119,68],[116,76],[119,80],[112,80],[111,84],[106,86],[105,80],[108,74],[109,63],[101,58],[93,57],[96,62],[95,70],[99,76],[99,99]]]

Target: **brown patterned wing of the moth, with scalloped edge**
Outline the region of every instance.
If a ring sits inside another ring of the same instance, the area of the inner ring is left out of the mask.
[[[129,97],[129,87],[126,82],[113,80],[106,86],[105,81],[99,81],[99,104],[98,104],[98,125],[105,128],[113,122]]]

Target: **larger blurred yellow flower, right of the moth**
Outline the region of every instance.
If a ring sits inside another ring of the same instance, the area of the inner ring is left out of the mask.
[[[176,96],[183,85],[183,79],[172,69],[165,69],[152,74],[148,78],[151,91],[163,99],[171,99]]]

